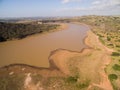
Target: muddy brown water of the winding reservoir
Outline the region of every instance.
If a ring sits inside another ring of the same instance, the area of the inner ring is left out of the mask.
[[[49,67],[48,57],[56,49],[80,51],[85,48],[84,38],[89,28],[68,24],[66,30],[37,34],[22,40],[0,43],[0,67],[23,63],[38,67]]]

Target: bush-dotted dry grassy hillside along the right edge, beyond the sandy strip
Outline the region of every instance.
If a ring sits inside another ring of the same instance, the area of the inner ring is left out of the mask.
[[[113,85],[114,90],[119,90],[117,79],[120,79],[120,17],[114,16],[84,16],[80,22],[92,26],[92,31],[99,36],[99,40],[105,46],[114,49],[111,54],[112,62],[107,66],[106,73]],[[116,72],[118,71],[118,72]],[[114,73],[114,74],[111,74]]]

